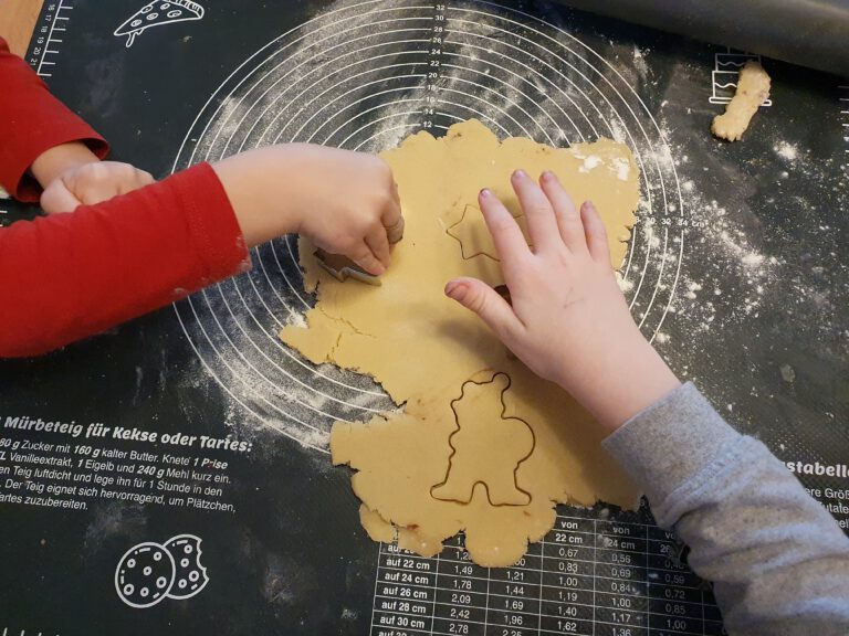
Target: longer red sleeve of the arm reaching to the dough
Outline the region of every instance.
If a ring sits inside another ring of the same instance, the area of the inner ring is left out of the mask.
[[[44,353],[250,267],[212,168],[0,229],[0,358]]]

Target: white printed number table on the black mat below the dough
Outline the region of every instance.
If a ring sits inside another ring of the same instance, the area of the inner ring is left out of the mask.
[[[475,565],[460,538],[431,559],[380,544],[371,636],[725,634],[679,551],[650,523],[577,516],[513,568]]]

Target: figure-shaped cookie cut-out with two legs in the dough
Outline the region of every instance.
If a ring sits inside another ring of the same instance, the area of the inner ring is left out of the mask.
[[[451,403],[457,431],[448,443],[446,480],[431,488],[436,499],[469,504],[480,484],[492,506],[526,506],[531,495],[518,487],[516,471],[534,451],[534,433],[524,420],[504,417],[503,395],[510,378],[495,374],[484,383],[469,381]]]

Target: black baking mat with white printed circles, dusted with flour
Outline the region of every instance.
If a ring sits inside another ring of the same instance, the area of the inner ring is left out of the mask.
[[[469,117],[627,142],[643,203],[623,286],[643,332],[847,527],[848,82],[764,60],[771,104],[721,144],[710,120],[746,59],[557,4],[415,0],[61,0],[28,54],[157,177],[271,142],[377,151]],[[0,200],[3,224],[36,211]],[[439,559],[373,543],[327,433],[388,401],[276,340],[312,303],[294,240],[253,261],[0,363],[3,636],[722,633],[644,511],[560,507],[506,570],[454,543]]]

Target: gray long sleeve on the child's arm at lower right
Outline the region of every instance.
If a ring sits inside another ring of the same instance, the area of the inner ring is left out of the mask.
[[[605,441],[658,524],[690,545],[730,634],[849,634],[849,538],[761,442],[692,384]]]

